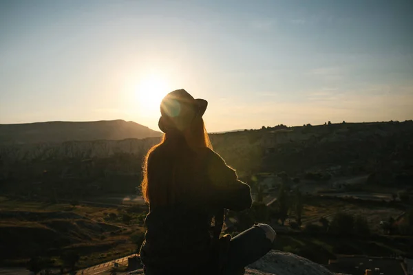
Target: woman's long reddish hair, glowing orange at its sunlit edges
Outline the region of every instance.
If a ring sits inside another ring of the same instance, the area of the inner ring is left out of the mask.
[[[195,118],[187,130],[189,135],[171,131],[162,136],[159,144],[149,149],[142,166],[142,197],[149,206],[152,202],[165,205],[173,201],[179,190],[173,178],[176,170],[174,157],[199,148],[211,148],[211,141],[202,118]]]

